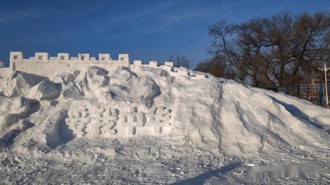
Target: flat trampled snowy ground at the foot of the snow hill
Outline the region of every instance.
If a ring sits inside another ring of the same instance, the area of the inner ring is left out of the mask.
[[[2,153],[4,154],[4,152]],[[36,159],[3,156],[2,184],[329,184],[330,153],[214,155],[159,138],[72,140]],[[250,177],[243,165],[319,165],[320,177]]]

